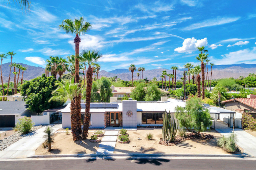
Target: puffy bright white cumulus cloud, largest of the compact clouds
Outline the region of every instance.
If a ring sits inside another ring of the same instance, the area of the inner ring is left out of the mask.
[[[196,51],[196,47],[206,46],[208,44],[207,38],[196,40],[194,37],[187,38],[182,43],[182,47],[178,47],[174,49],[178,53],[191,53],[192,51]]]

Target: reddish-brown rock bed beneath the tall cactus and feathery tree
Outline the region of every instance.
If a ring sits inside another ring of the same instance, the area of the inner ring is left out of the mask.
[[[159,144],[162,144],[162,145],[165,145],[165,146],[174,146],[178,143],[181,143],[185,140],[189,140],[189,139],[207,139],[207,140],[210,140],[210,139],[213,139],[214,136],[213,135],[210,135],[210,134],[206,134],[206,133],[200,133],[200,135],[197,135],[197,134],[194,134],[194,133],[187,133],[187,136],[185,138],[182,138],[180,136],[176,136],[175,140],[173,142],[165,142],[162,138],[160,139],[159,141]]]

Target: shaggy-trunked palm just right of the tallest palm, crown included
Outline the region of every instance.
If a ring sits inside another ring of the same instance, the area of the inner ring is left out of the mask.
[[[90,103],[91,103],[91,86],[93,84],[93,69],[94,65],[97,63],[98,59],[101,58],[102,55],[99,51],[90,51],[83,50],[80,59],[84,59],[87,65],[87,74],[86,74],[86,107],[85,107],[85,115],[83,121],[83,133],[82,138],[86,139],[88,136],[88,130],[90,127]],[[93,67],[91,67],[93,66]],[[76,101],[77,102],[77,101]],[[77,103],[75,103],[77,104]],[[80,103],[79,103],[80,105]],[[81,107],[81,105],[80,105]],[[80,119],[80,118],[79,118]]]

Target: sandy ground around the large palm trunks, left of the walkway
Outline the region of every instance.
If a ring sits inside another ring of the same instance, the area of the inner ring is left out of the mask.
[[[74,142],[72,140],[71,132],[56,133],[54,136],[54,143],[52,144],[52,151],[48,152],[42,145],[35,150],[35,155],[49,155],[49,154],[92,154],[98,150],[100,142],[90,142],[90,136],[94,131],[89,131],[86,140],[82,140],[82,144],[79,141]],[[103,138],[103,137],[99,137]]]

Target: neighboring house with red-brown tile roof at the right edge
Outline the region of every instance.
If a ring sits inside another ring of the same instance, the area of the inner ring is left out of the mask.
[[[250,113],[256,118],[256,95],[248,95],[247,98],[233,98],[222,101],[226,109],[239,113]]]

